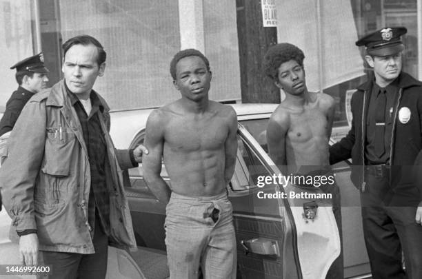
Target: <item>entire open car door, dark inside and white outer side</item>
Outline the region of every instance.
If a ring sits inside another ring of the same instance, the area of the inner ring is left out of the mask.
[[[321,190],[273,182],[263,185],[266,177],[281,174],[279,169],[241,124],[238,144],[229,197],[241,278],[325,278],[340,253],[332,207],[321,200],[290,198],[290,192]]]

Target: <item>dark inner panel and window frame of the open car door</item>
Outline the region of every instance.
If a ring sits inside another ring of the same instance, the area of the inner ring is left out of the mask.
[[[268,158],[239,124],[238,152],[228,191],[233,205],[241,278],[302,278],[290,207],[281,198],[260,198],[281,192],[277,184],[258,187],[259,176],[271,176]]]

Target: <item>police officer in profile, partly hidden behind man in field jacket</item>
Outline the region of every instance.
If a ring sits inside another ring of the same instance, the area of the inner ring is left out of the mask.
[[[6,103],[6,111],[0,121],[0,136],[13,129],[23,106],[35,93],[46,88],[48,82],[48,69],[44,66],[42,52],[19,61],[10,69],[16,69],[19,87]]]

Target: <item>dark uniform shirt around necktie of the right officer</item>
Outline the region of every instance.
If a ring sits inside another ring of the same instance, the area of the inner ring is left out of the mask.
[[[376,83],[373,83],[372,92],[370,96],[370,103],[368,109],[368,117],[366,119],[366,143],[365,143],[365,158],[366,164],[369,165],[382,165],[388,164],[390,160],[390,150],[391,150],[391,138],[392,138],[392,128],[393,128],[393,119],[396,107],[396,99],[399,92],[399,87],[397,85],[397,79],[390,83],[387,87],[381,88]],[[387,92],[383,93],[382,90]],[[377,107],[376,99],[380,94],[385,94],[385,133],[384,133],[384,150],[385,152],[378,156],[374,152],[375,145],[375,118],[376,111],[381,110],[381,107]]]

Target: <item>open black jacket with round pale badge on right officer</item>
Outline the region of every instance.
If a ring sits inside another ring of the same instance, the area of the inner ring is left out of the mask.
[[[330,147],[330,163],[352,158],[352,182],[362,189],[365,172],[365,120],[374,79],[363,83],[354,92],[351,101],[352,128],[347,136]],[[412,206],[422,200],[422,180],[416,176],[422,172],[415,165],[422,165],[422,83],[409,74],[401,72],[398,77],[399,96],[394,104],[391,138],[390,181],[393,192],[403,195]],[[410,119],[406,121],[406,112]],[[401,113],[399,113],[401,111]],[[399,114],[401,117],[399,117]],[[416,160],[417,157],[417,160]],[[422,174],[419,175],[422,179]]]

